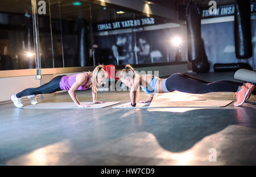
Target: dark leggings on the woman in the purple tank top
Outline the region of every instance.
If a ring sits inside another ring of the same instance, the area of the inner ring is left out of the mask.
[[[51,79],[50,82],[37,87],[37,88],[27,88],[21,92],[19,92],[18,94],[16,94],[16,96],[18,98],[22,98],[22,96],[28,96],[28,95],[38,95],[38,94],[51,94],[55,91],[60,91],[60,79],[63,77],[64,75],[58,75],[57,77]]]

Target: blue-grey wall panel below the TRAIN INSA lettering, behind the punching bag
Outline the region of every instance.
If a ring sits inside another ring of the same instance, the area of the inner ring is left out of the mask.
[[[211,23],[201,25],[201,36],[204,40],[205,51],[210,62],[210,71],[216,63],[229,64],[246,62],[256,69],[256,19],[251,20],[251,36],[253,42],[253,57],[236,58],[234,46],[234,22]]]

